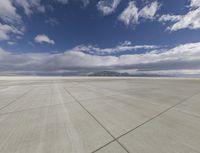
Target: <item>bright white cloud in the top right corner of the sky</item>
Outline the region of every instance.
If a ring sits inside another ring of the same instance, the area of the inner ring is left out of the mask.
[[[200,29],[200,0],[190,0],[190,9],[185,15],[162,15],[160,22],[167,23],[170,31],[180,29]]]

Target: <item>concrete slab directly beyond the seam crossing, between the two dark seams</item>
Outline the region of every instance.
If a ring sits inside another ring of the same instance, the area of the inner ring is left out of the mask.
[[[118,101],[107,97],[81,101],[84,107],[115,137],[128,132],[166,109],[142,101]]]

